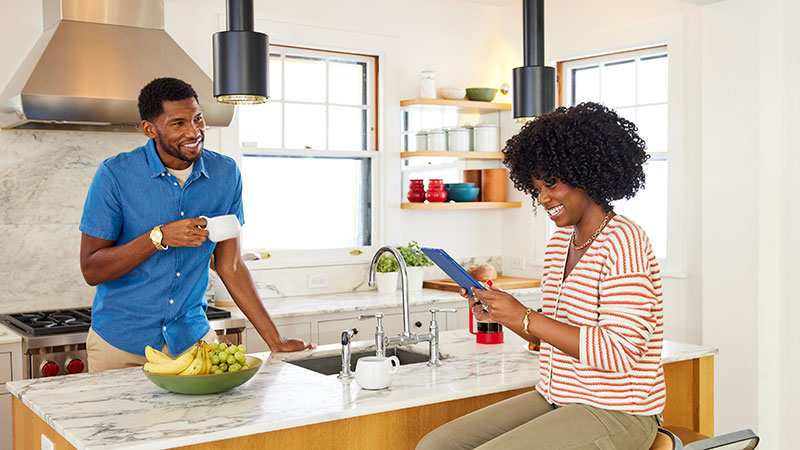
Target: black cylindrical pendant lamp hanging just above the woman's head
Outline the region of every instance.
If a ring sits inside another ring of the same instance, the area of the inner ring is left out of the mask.
[[[556,70],[544,65],[544,0],[522,0],[524,63],[513,71],[512,110],[527,122],[555,109]]]

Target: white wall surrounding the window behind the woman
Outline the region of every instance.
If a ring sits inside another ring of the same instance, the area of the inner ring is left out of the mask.
[[[522,3],[501,10],[501,65],[510,73],[522,65]],[[545,59],[556,61],[611,51],[668,44],[670,183],[678,186],[668,213],[677,225],[669,236],[664,271],[665,338],[700,343],[702,263],[700,245],[701,10],[697,5],[662,0],[550,0],[545,2]],[[530,204],[530,199],[522,199]],[[511,216],[511,217],[509,217]],[[530,208],[503,217],[503,257],[524,252],[543,258],[544,214]],[[634,218],[635,220],[635,218]],[[675,233],[677,231],[677,233]],[[681,236],[682,235],[682,238]],[[538,265],[527,270],[535,276]]]

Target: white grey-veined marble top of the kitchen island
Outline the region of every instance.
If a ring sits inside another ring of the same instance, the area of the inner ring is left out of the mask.
[[[353,351],[369,342],[354,343]],[[476,344],[465,330],[441,334],[442,365],[401,366],[392,385],[361,389],[286,361],[339,354],[339,345],[265,359],[246,384],[213,395],[179,395],[150,383],[140,368],[7,383],[8,390],[78,449],[170,448],[531,387],[538,356],[506,333],[499,345]],[[414,351],[427,353],[427,344]],[[664,361],[716,353],[667,343]]]

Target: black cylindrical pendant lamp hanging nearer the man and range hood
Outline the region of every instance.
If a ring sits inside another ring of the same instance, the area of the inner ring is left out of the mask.
[[[253,0],[226,0],[228,31],[214,33],[214,97],[234,105],[269,97],[269,37],[253,31]]]

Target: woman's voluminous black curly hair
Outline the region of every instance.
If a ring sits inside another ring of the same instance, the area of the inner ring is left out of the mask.
[[[585,190],[606,211],[644,187],[650,157],[636,125],[605,106],[586,102],[528,122],[506,142],[503,163],[514,187],[539,202],[537,178]]]

